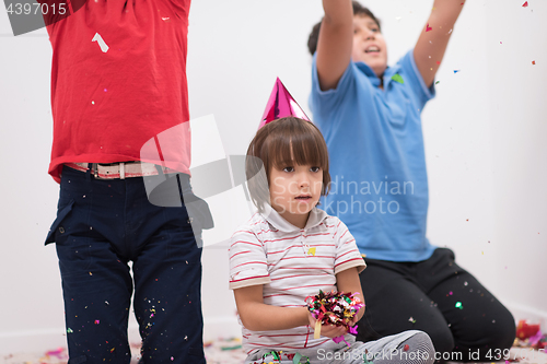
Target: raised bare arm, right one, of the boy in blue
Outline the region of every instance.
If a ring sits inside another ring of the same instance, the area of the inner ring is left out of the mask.
[[[428,87],[435,79],[464,2],[465,0],[435,0],[428,23],[418,38],[414,58]]]

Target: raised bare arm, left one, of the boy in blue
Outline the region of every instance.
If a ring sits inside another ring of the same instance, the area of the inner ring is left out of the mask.
[[[353,8],[351,0],[323,0],[323,19],[317,40],[317,73],[321,90],[336,89],[351,59]]]

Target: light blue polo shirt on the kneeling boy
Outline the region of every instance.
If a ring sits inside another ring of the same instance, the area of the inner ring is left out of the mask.
[[[338,216],[368,258],[426,260],[428,176],[420,114],[434,96],[412,51],[380,79],[350,62],[335,90],[321,91],[313,60],[310,108],[330,158],[330,192],[322,209]]]

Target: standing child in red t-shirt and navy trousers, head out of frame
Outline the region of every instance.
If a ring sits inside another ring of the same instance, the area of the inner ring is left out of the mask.
[[[69,363],[130,362],[133,286],[141,362],[205,363],[200,230],[194,234],[184,206],[152,204],[144,179],[165,174],[181,198],[191,196],[189,129],[174,128],[189,120],[190,0],[67,7],[65,19],[46,15],[54,50],[49,173],[60,183],[46,244],[55,242],[59,257]],[[176,148],[141,156],[168,130],[179,131],[168,140]]]

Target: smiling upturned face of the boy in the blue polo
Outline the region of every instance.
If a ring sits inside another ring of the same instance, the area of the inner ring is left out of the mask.
[[[366,15],[353,16],[353,48],[351,59],[364,62],[377,77],[387,68],[387,46],[376,22]]]

